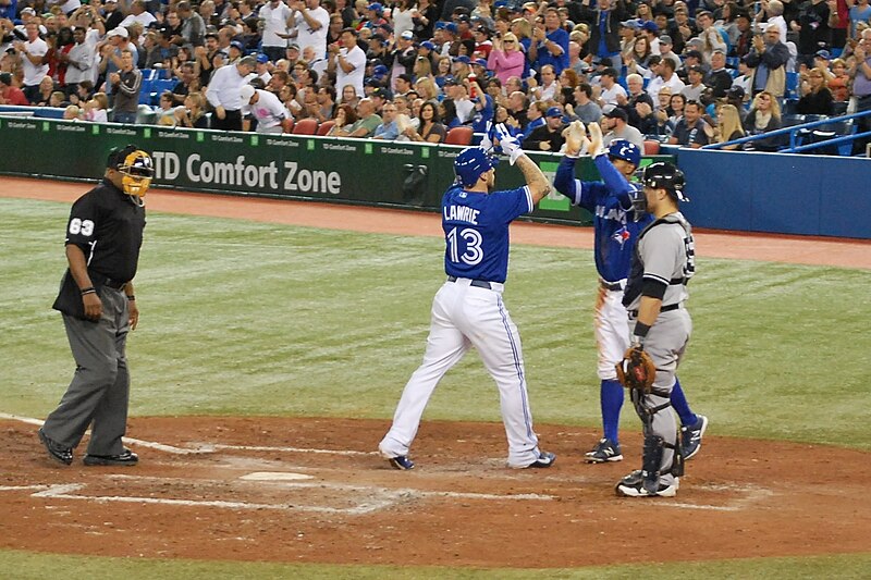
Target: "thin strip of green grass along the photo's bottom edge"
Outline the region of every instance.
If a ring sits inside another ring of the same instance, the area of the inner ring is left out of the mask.
[[[588,568],[526,570],[483,570],[475,568],[333,566],[314,564],[235,563],[199,560],[159,560],[149,558],[95,558],[0,551],[0,578],[42,580],[62,576],[68,580],[116,580],[118,578],[185,578],[187,580],[233,579],[308,579],[330,580],[630,580],[706,578],[708,580],[780,580],[783,578],[860,579],[868,578],[871,554],[833,555],[806,558],[752,558],[711,563],[673,563]]]

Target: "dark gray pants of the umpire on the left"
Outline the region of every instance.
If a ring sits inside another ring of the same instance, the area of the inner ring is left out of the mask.
[[[125,346],[130,332],[127,297],[102,287],[102,316],[90,322],[63,314],[76,369],[60,405],[42,427],[49,439],[76,447],[94,423],[89,455],[118,455],[127,427],[130,374]]]

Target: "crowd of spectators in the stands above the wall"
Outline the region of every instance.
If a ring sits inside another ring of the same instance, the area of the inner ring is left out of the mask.
[[[868,0],[0,0],[0,106],[429,143],[495,121],[543,151],[579,119],[701,147],[871,110],[870,24]]]

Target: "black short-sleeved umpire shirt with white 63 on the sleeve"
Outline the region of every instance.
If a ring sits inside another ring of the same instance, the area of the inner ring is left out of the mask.
[[[136,275],[144,230],[145,208],[103,180],[73,203],[66,244],[82,248],[88,272],[128,282]]]

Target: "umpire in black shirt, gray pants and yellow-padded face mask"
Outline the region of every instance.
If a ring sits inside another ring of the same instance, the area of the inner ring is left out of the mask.
[[[66,260],[53,308],[63,314],[76,362],[60,405],[39,429],[53,460],[70,465],[91,427],[86,466],[132,466],[125,448],[130,375],[127,332],[139,320],[133,277],[145,230],[143,197],[154,177],[151,158],[136,146],[109,153],[102,183],[78,198],[66,225]],[[93,423],[93,425],[91,425]]]

